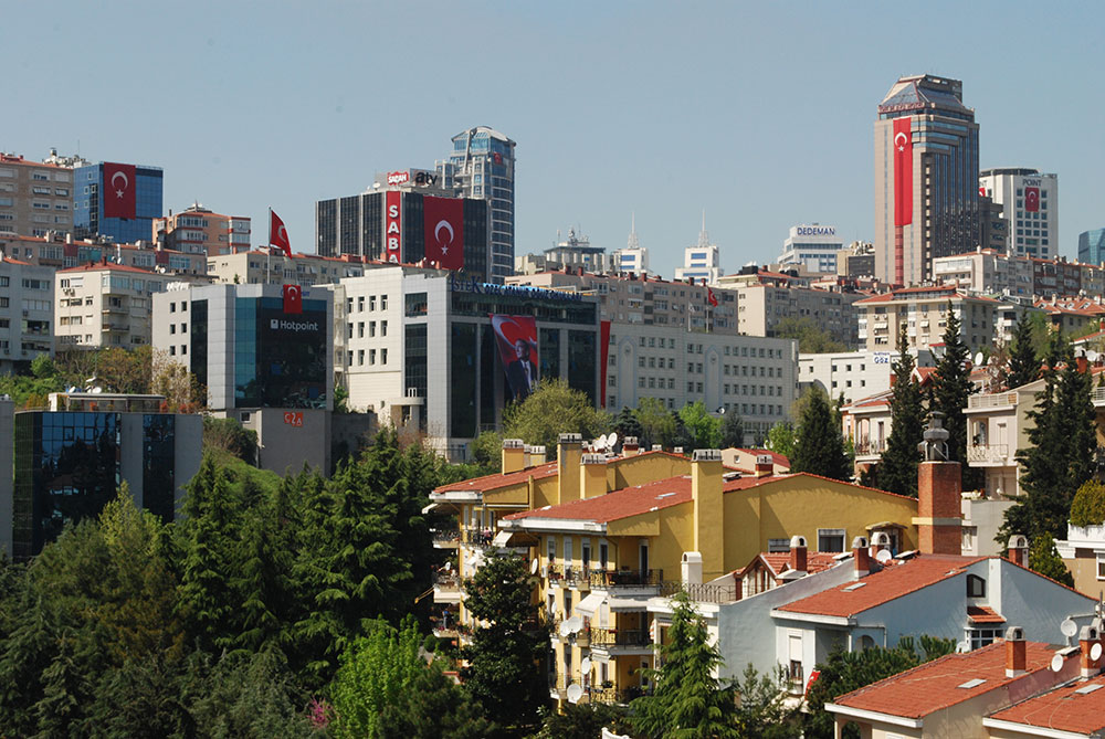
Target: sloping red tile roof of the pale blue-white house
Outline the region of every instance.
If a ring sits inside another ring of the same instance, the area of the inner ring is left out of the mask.
[[[985,559],[987,558],[918,555],[915,559],[902,562],[897,567],[869,574],[859,581],[863,584],[854,590],[845,590],[845,588],[854,588],[859,583],[844,583],[788,603],[778,610],[790,613],[850,617],[923,588],[928,588],[941,580],[959,576],[967,566]]]

